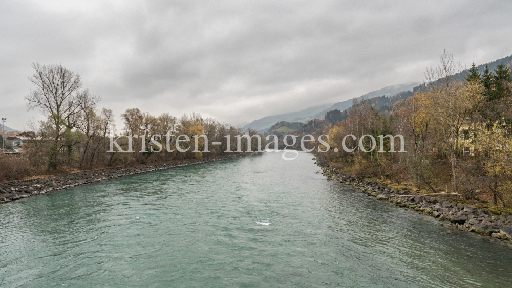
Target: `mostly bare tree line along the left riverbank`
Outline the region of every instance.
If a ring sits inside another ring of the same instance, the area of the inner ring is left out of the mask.
[[[121,114],[123,126],[120,131],[116,131],[112,110],[99,107],[101,97],[83,88],[77,73],[62,65],[33,64],[33,68],[35,73],[29,77],[33,88],[25,100],[28,109],[38,110],[46,120],[28,123],[30,131],[22,134],[27,139],[24,141],[23,154],[0,154],[0,180],[216,157],[226,153],[228,138],[230,147],[236,151],[236,135],[257,134],[254,130],[243,131],[239,127],[203,118],[196,113],[180,117],[168,113],[154,116],[138,108],[126,109]],[[175,149],[175,140],[176,136],[182,134],[191,139],[187,146],[194,147],[196,143],[193,136],[201,134],[206,135],[210,142],[222,142],[222,145],[210,145],[209,152],[202,152],[204,139],[198,138],[199,152],[189,149],[181,153]],[[128,135],[145,135],[145,139],[133,141],[133,153],[108,152],[111,137],[121,137],[117,143],[122,149],[127,149],[129,143],[123,136]],[[169,141],[160,141],[164,152],[153,152],[153,143],[150,142],[153,135],[169,135]],[[227,135],[230,137],[226,138]],[[144,145],[141,140],[145,141]],[[247,139],[242,138],[240,141],[242,147],[246,147]],[[252,142],[251,148],[255,151],[257,143]],[[142,146],[144,150],[141,150]]]

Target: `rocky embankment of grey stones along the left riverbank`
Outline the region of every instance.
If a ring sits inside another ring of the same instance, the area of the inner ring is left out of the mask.
[[[257,154],[257,152],[244,152],[232,154],[229,156],[220,156],[215,158],[203,158],[176,161],[172,163],[138,165],[133,167],[118,167],[102,170],[82,171],[66,175],[48,176],[45,178],[36,178],[23,181],[11,181],[0,184],[0,203],[8,203],[14,200],[27,198],[34,195],[41,195],[52,191],[84,185],[88,183],[119,178],[150,171],[169,169],[174,167],[219,161],[231,158],[238,158]]]

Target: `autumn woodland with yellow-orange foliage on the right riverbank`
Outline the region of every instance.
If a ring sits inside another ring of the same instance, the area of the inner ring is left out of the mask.
[[[356,101],[345,120],[316,131],[315,135],[329,135],[331,148],[342,151],[345,139],[348,149],[354,149],[350,153],[331,149],[321,156],[357,177],[409,183],[430,193],[455,192],[482,207],[510,209],[509,59],[459,71],[452,55],[445,52],[441,64],[426,71],[425,84],[414,93]],[[390,110],[379,108],[390,105]],[[393,152],[401,150],[400,138],[391,145],[387,137],[381,147],[379,135],[398,134],[403,136],[406,152]]]

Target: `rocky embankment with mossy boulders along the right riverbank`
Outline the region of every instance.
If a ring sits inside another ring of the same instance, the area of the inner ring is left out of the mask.
[[[457,201],[441,198],[443,195],[429,196],[416,194],[409,190],[397,191],[376,181],[356,179],[345,175],[332,165],[317,161],[318,166],[324,170],[324,175],[329,179],[352,185],[379,200],[417,211],[440,221],[446,221],[446,226],[450,229],[473,231],[500,241],[512,240],[512,216],[508,213],[495,215],[489,210],[477,209],[472,205],[464,205]],[[451,233],[450,230],[449,233]]]

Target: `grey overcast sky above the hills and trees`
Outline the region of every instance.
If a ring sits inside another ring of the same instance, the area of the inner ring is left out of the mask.
[[[31,64],[61,63],[100,107],[232,125],[512,54],[510,1],[2,1],[0,117],[24,129]]]

